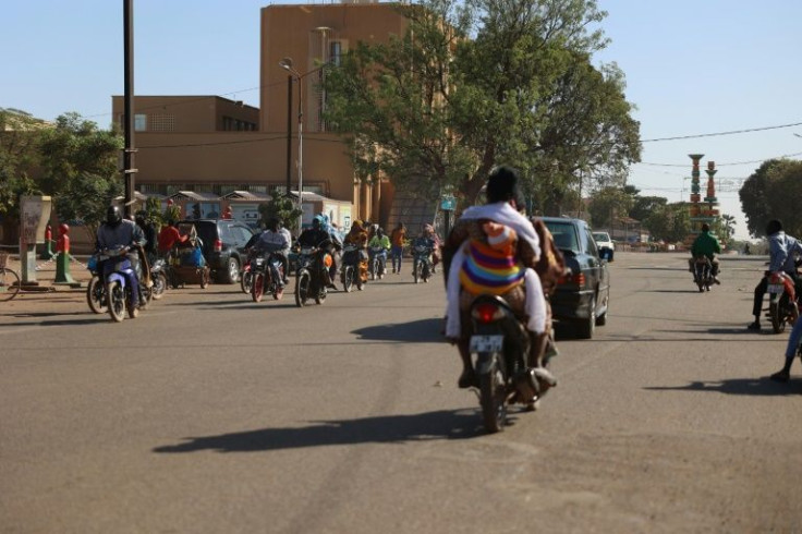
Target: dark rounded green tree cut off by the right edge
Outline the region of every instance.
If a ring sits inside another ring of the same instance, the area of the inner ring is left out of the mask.
[[[766,234],[771,219],[782,221],[787,233],[802,234],[802,161],[773,159],[764,162],[741,186],[741,209],[754,236]]]

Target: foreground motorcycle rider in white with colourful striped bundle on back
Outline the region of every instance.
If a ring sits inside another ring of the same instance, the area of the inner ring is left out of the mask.
[[[462,359],[460,388],[476,386],[469,349],[467,318],[474,298],[488,293],[503,298],[521,318],[531,345],[545,332],[546,302],[534,266],[540,245],[532,222],[518,211],[523,206],[518,174],[507,167],[493,171],[487,182],[487,205],[467,208],[443,246],[447,281],[446,337],[457,343]],[[527,357],[536,366],[532,354]]]

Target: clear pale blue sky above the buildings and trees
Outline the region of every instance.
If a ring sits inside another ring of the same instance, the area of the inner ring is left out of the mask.
[[[124,88],[123,1],[1,2],[0,107],[46,120],[75,111],[108,128],[111,96]],[[746,239],[740,181],[766,159],[802,158],[802,1],[597,2],[610,44],[595,61],[624,72],[641,123],[642,162],[628,182],[641,195],[688,201],[688,155],[704,154],[702,168],[718,169],[720,210]],[[134,93],[219,95],[258,107],[266,5],[134,0]]]

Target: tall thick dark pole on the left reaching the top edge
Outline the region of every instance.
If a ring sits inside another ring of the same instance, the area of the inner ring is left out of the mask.
[[[125,70],[125,95],[123,112],[123,130],[125,147],[123,148],[123,180],[125,183],[125,217],[133,219],[134,185],[134,0],[123,0],[123,69]]]

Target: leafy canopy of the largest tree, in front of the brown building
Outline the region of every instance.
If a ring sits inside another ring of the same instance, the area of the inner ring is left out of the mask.
[[[640,157],[622,75],[590,62],[605,46],[587,31],[605,16],[594,0],[399,9],[405,35],[357,45],[325,78],[327,124],[344,134],[360,180],[429,197],[453,187],[475,203],[493,167],[511,162],[549,213],[578,169],[620,171]]]

